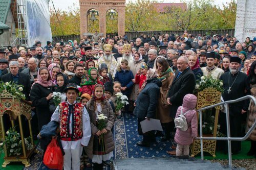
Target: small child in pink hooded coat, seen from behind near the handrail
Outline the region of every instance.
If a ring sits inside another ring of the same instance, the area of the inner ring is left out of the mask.
[[[187,120],[187,130],[182,131],[177,128],[174,140],[177,142],[176,156],[188,155],[189,145],[193,142],[193,139],[197,137],[197,112],[195,110],[197,105],[197,97],[194,94],[186,94],[183,99],[183,104],[177,110],[176,117],[181,114],[185,114]],[[175,118],[176,118],[175,117]]]

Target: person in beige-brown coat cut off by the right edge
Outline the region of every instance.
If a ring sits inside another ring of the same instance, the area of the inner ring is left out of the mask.
[[[249,72],[249,79],[250,79],[250,91],[251,95],[256,98],[256,61],[251,64],[250,72]],[[256,121],[256,106],[253,102],[250,103],[249,112],[247,115],[247,124],[246,124],[246,131],[248,131],[254,122]],[[251,140],[251,148],[247,155],[254,155],[256,156],[256,129],[254,129],[249,136]]]

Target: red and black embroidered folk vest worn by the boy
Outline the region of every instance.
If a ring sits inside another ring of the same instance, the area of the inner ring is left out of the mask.
[[[69,105],[67,102],[59,104],[59,129],[60,139],[74,141],[82,138],[82,113],[83,105],[76,103]],[[72,116],[72,130],[70,129],[70,117]]]

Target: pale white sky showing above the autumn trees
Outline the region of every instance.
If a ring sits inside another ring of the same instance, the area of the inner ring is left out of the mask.
[[[126,2],[133,0],[126,0]],[[215,0],[215,4],[222,7],[222,3],[230,2],[231,0]],[[73,7],[76,4],[79,7],[79,0],[51,0],[50,7],[52,8],[52,2],[57,10],[57,8],[61,10],[69,10],[68,7]],[[161,2],[161,1],[159,1]],[[163,0],[163,3],[179,3],[180,0]]]

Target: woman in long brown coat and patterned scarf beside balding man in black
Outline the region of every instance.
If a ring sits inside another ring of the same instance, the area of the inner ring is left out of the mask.
[[[174,80],[174,71],[169,67],[168,62],[165,58],[158,58],[156,63],[158,79],[162,82],[160,87],[160,98],[158,99],[157,114],[156,118],[160,120],[162,126],[165,129],[165,134],[161,138],[161,141],[170,139],[170,128],[173,118],[169,116],[170,105],[167,103],[167,93],[172,86]]]

